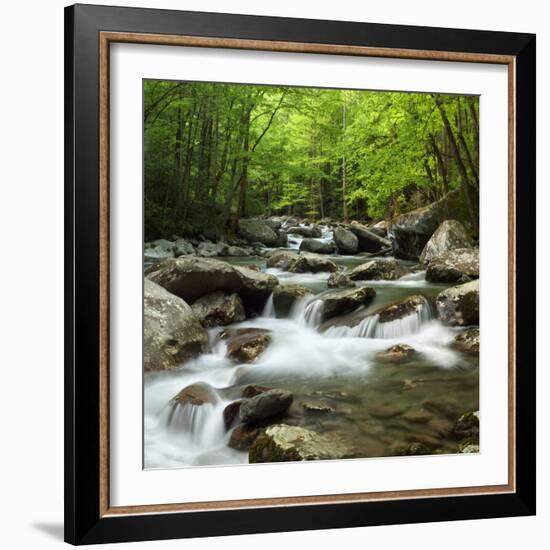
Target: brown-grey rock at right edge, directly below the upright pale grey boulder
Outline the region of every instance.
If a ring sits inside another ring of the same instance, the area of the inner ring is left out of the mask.
[[[433,257],[426,268],[426,281],[457,283],[479,278],[479,249],[457,248]]]

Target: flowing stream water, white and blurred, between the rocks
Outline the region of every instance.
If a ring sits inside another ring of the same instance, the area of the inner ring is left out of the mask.
[[[290,246],[297,248],[299,242]],[[365,261],[362,256],[331,259],[348,268]],[[261,258],[227,261],[254,263],[265,270]],[[435,441],[439,452],[456,452],[456,442],[445,435],[450,423],[445,410],[478,409],[477,358],[450,349],[457,329],[434,318],[429,300],[416,313],[396,321],[380,323],[378,316],[371,314],[413,294],[433,298],[444,286],[427,283],[424,272],[397,281],[369,281],[368,286],[377,293],[373,303],[352,314],[362,320],[353,327],[326,326],[317,295],[328,291],[328,273],[267,272],[283,284],[307,286],[315,295],[295,303],[287,319],[275,317],[270,299],[260,316],[231,325],[270,331],[271,344],[251,364],[235,364],[226,358],[225,343],[217,337],[221,328],[215,328],[209,330],[209,353],[180,370],[145,376],[146,468],[246,463],[246,452],[227,446],[230,431],[225,429],[223,410],[240,398],[248,384],[287,389],[294,394],[297,406],[306,403],[330,410],[330,414],[304,415],[302,425],[319,432],[347,434],[364,457],[390,455],[396,443],[411,440]],[[377,359],[378,352],[394,344],[408,344],[418,353],[407,363],[388,364]],[[175,408],[169,404],[181,389],[197,382],[213,388],[211,403]],[[434,399],[443,402],[443,407],[430,411],[423,423],[402,414],[418,411],[422,403]]]

